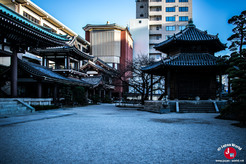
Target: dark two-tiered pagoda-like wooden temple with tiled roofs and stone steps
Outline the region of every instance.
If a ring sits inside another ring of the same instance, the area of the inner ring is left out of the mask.
[[[196,28],[192,21],[171,38],[155,46],[167,57],[142,68],[146,73],[165,77],[165,94],[171,100],[215,99],[217,82],[226,69],[215,53],[224,50],[218,35]]]

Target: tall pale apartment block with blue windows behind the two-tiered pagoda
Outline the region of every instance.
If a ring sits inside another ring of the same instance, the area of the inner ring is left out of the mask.
[[[143,22],[146,25],[148,20],[149,40],[145,40],[148,42],[149,56],[156,60],[161,59],[165,54],[156,51],[154,46],[183,30],[189,19],[192,19],[192,0],[136,0],[136,19],[130,22],[134,48],[143,45],[139,37],[141,34],[135,32],[140,28],[136,27]],[[134,53],[141,54],[138,50],[134,50]]]

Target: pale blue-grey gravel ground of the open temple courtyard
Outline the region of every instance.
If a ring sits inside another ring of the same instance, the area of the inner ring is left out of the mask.
[[[103,104],[0,127],[0,163],[216,163],[224,144],[246,160],[246,130],[211,113],[156,114]]]

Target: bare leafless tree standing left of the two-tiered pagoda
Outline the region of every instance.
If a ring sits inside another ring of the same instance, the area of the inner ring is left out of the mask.
[[[151,82],[151,75],[144,73],[141,68],[150,64],[153,64],[154,60],[147,55],[139,55],[133,62],[127,62],[125,68],[120,69],[118,78],[124,85],[132,87],[137,94],[141,95],[141,103],[144,104],[144,100],[148,100],[151,91],[156,90],[163,91],[164,85],[161,84],[163,77],[154,76]],[[155,86],[152,88],[152,86]],[[152,90],[151,90],[152,88]]]

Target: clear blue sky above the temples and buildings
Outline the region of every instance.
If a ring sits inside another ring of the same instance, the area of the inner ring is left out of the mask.
[[[135,0],[32,0],[35,4],[84,37],[86,24],[117,23],[127,26],[135,19]],[[246,0],[193,0],[193,20],[209,34],[219,33],[223,43],[232,34],[227,20],[246,10]],[[228,52],[221,52],[224,54]]]

